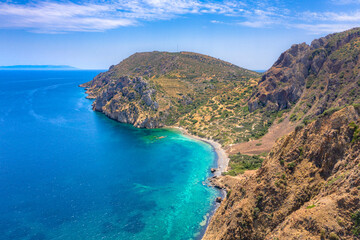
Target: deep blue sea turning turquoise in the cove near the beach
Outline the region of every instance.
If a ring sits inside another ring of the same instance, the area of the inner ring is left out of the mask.
[[[91,110],[100,71],[0,71],[0,239],[197,239],[211,146]]]

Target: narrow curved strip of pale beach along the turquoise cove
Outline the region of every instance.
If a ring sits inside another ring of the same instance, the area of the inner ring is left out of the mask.
[[[179,130],[182,134],[186,135],[189,138],[203,141],[203,142],[206,142],[207,144],[210,144],[212,146],[212,148],[214,149],[214,151],[216,153],[216,157],[217,157],[217,168],[216,168],[216,171],[214,172],[214,176],[221,176],[221,174],[223,172],[227,171],[230,159],[229,159],[227,153],[225,152],[225,150],[222,148],[220,143],[215,142],[214,140],[211,140],[211,139],[201,138],[201,137],[192,135],[186,129],[184,129],[182,127],[168,127],[168,128]]]

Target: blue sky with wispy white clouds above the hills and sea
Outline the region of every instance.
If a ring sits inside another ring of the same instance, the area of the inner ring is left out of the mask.
[[[360,0],[0,0],[0,66],[107,69],[192,51],[266,70],[296,43],[360,27]]]

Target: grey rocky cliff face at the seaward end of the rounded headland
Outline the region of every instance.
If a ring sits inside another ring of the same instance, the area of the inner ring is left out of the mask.
[[[106,77],[105,77],[106,79]],[[156,90],[142,77],[120,77],[116,81],[102,81],[93,103],[95,111],[121,123],[139,128],[161,127],[156,114]],[[99,87],[99,86],[97,86]]]

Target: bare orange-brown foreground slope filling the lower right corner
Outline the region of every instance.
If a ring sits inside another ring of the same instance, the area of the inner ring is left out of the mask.
[[[324,114],[281,138],[259,170],[228,189],[207,239],[360,237],[360,107]]]

